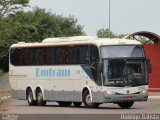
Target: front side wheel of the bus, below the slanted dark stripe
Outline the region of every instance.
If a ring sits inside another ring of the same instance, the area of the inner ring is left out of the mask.
[[[84,94],[83,94],[83,103],[85,105],[85,107],[88,107],[88,108],[97,108],[99,107],[99,103],[93,103],[91,102],[91,96],[89,94],[89,91],[85,91]]]

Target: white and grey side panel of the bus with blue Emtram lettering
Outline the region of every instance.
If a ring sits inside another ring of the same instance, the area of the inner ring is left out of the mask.
[[[44,93],[44,100],[51,101],[81,101],[83,88],[86,87],[92,91],[101,89],[91,80],[80,65],[73,65],[72,67],[15,67],[10,65],[9,76],[14,92],[12,95],[18,99],[25,99],[27,87],[31,87],[34,99],[35,91],[39,87]]]

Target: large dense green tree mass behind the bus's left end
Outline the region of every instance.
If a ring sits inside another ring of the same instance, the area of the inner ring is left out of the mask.
[[[73,16],[64,17],[35,7],[0,19],[0,68],[8,70],[8,49],[18,41],[41,42],[48,37],[84,35]]]

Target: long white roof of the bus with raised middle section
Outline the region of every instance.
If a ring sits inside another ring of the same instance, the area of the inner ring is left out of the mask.
[[[38,47],[38,46],[62,46],[62,45],[80,45],[80,44],[95,44],[98,47],[102,45],[140,45],[136,40],[120,39],[120,38],[97,38],[93,36],[73,36],[73,37],[59,37],[46,38],[41,43],[25,43],[19,42],[13,44],[11,47]]]

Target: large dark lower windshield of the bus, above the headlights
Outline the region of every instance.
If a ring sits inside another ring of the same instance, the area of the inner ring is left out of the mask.
[[[104,59],[105,86],[146,85],[145,60]]]

